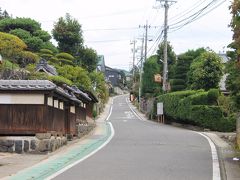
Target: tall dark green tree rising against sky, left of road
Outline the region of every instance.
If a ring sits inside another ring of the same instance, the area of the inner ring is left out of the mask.
[[[81,25],[70,14],[65,18],[60,17],[52,30],[54,39],[58,42],[58,48],[62,52],[76,55],[83,45]]]

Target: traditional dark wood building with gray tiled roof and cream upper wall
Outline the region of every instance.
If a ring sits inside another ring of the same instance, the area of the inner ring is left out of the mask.
[[[95,102],[76,91],[47,80],[0,80],[0,134],[76,135],[87,103]]]

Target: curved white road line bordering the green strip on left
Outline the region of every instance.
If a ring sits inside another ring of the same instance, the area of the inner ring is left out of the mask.
[[[111,116],[111,114],[112,114],[112,106],[111,106],[111,110],[110,110],[110,113],[108,115],[108,118]],[[110,128],[111,128],[111,135],[107,139],[107,141],[105,141],[100,147],[95,149],[93,152],[91,152],[87,156],[83,157],[82,159],[79,159],[78,161],[70,164],[69,166],[66,166],[65,168],[61,169],[60,171],[58,171],[58,172],[52,174],[51,176],[47,177],[46,180],[50,180],[50,179],[53,179],[53,178],[57,177],[58,175],[64,173],[65,171],[67,171],[68,169],[72,168],[73,166],[75,166],[75,165],[79,164],[80,162],[86,160],[87,158],[91,157],[92,155],[97,153],[99,150],[101,150],[103,147],[105,147],[112,140],[113,136],[115,135],[115,131],[114,131],[112,123],[111,122],[107,122],[107,123],[110,125]]]

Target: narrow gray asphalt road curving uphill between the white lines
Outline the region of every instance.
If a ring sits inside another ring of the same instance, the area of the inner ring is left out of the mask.
[[[111,142],[57,180],[211,180],[208,141],[199,134],[142,121],[127,96],[113,101],[109,118],[115,129]]]

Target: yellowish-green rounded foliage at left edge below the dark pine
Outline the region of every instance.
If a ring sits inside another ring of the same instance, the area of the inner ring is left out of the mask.
[[[3,57],[17,56],[26,47],[26,44],[17,36],[0,32],[0,54]]]

